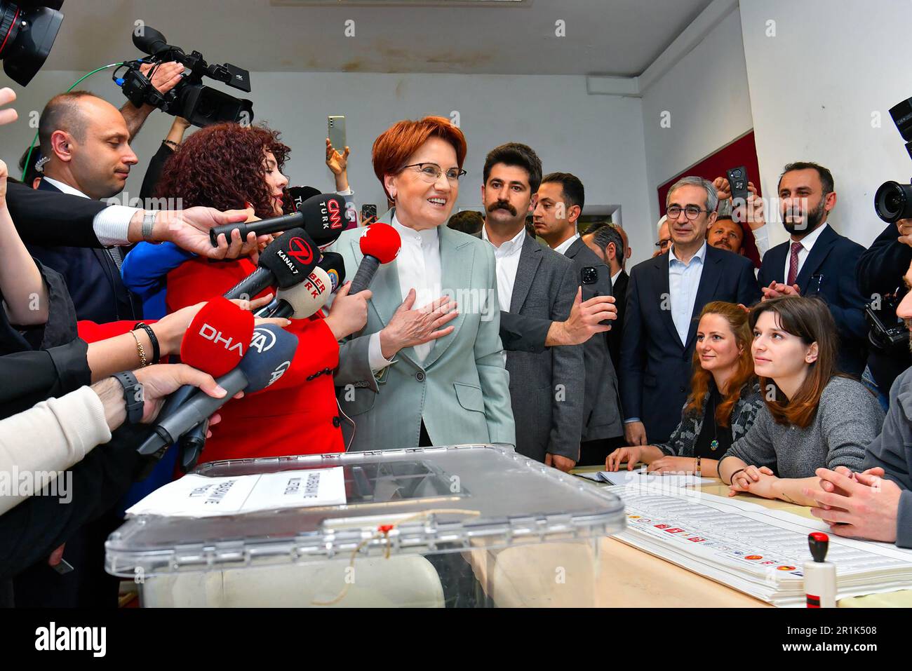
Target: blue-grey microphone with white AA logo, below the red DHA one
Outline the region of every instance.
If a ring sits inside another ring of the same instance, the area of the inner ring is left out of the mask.
[[[281,328],[266,324],[254,329],[250,346],[240,363],[222,377],[216,378],[227,393],[213,398],[196,390],[190,400],[170,417],[159,418],[153,433],[137,449],[140,454],[156,454],[167,449],[176,439],[208,419],[239,391],[254,392],[269,387],[285,375],[297,349],[297,337]]]

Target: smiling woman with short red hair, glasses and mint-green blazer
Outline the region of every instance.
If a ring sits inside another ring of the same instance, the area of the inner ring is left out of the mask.
[[[374,142],[374,172],[394,202],[378,221],[402,246],[374,276],[367,325],[340,349],[350,449],[515,444],[492,247],[445,225],[465,154],[462,131],[440,117],[399,121]],[[348,269],[361,261],[361,233],[334,245]]]

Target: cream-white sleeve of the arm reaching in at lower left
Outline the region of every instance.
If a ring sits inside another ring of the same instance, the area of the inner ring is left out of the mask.
[[[91,387],[0,421],[0,515],[110,439],[105,408]]]

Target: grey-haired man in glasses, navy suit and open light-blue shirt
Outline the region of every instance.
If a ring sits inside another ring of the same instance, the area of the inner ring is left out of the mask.
[[[710,247],[716,220],[712,182],[685,177],[668,191],[668,253],[630,273],[621,339],[621,403],[631,445],[668,439],[688,396],[697,317],[711,301],[751,305],[760,298],[753,264]]]

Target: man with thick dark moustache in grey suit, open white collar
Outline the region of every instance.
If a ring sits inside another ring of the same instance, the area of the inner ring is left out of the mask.
[[[482,239],[494,246],[502,314],[544,323],[570,315],[578,284],[565,256],[525,232],[525,217],[542,180],[542,162],[523,144],[492,150],[484,162]],[[579,460],[583,428],[583,348],[507,351],[516,451],[560,470]]]

